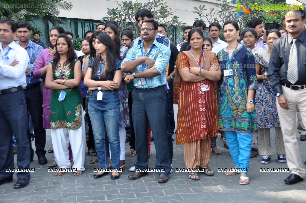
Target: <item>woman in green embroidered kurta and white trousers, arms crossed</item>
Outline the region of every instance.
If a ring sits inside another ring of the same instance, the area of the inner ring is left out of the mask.
[[[82,97],[79,85],[81,82],[81,63],[76,59],[73,45],[66,34],[58,35],[57,52],[47,68],[46,87],[53,89],[50,103],[51,138],[54,158],[62,176],[65,169],[70,169],[69,142],[71,144],[74,176],[85,170],[85,123]],[[64,96],[65,95],[65,96]]]

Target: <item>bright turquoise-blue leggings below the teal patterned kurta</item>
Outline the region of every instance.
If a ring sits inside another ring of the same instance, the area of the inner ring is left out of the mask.
[[[224,131],[224,133],[235,166],[239,167],[240,173],[248,175],[252,133],[234,131]]]

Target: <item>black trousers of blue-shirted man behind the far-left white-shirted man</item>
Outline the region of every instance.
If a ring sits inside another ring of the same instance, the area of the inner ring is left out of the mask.
[[[35,135],[35,153],[37,156],[46,154],[46,129],[43,128],[43,94],[40,85],[31,89],[25,89],[25,100],[28,107],[28,112],[31,115],[34,126]],[[32,148],[31,133],[28,131],[28,139],[30,142],[31,156],[34,156]],[[17,147],[19,147],[17,145]],[[18,148],[19,149],[19,148]]]

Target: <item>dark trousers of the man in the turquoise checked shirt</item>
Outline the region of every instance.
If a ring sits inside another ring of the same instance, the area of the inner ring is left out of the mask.
[[[136,137],[137,163],[135,169],[146,169],[150,124],[156,150],[156,169],[164,169],[158,174],[169,174],[171,169],[169,146],[167,141],[167,98],[164,86],[152,89],[134,89],[132,92],[132,118]]]

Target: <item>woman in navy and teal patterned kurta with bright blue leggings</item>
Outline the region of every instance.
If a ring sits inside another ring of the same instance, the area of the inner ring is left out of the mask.
[[[252,133],[257,133],[253,96],[257,78],[252,51],[237,43],[238,24],[232,20],[223,25],[228,47],[218,54],[222,76],[218,83],[219,129],[225,132],[240,184],[248,184],[248,163]],[[232,59],[231,59],[232,58]]]

